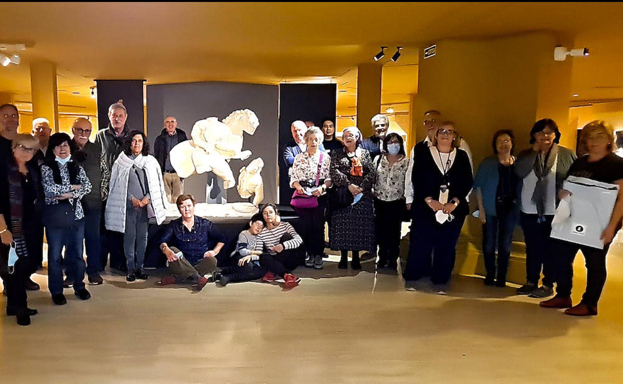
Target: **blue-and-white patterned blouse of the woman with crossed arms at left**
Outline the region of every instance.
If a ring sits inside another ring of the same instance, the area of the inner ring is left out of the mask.
[[[67,163],[69,164],[69,162]],[[54,182],[54,176],[52,175],[52,169],[45,164],[41,166],[41,182],[43,184],[43,190],[45,192],[45,204],[53,205],[58,204],[59,200],[55,199],[56,196],[66,194],[67,192],[72,192],[72,184],[69,180],[69,169],[67,168],[67,164],[61,165],[59,164],[60,171],[60,179],[63,184],[56,184]],[[91,192],[92,185],[88,180],[87,173],[84,171],[82,166],[78,166],[80,172],[78,174],[78,179],[80,179],[80,189],[74,190],[74,199],[77,199],[76,208],[75,208],[75,219],[80,220],[84,217],[84,211],[82,209],[82,200],[85,195],[88,195]],[[69,203],[74,205],[74,199],[69,199]]]

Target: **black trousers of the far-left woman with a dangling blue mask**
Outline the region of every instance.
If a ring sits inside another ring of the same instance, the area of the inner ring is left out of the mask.
[[[0,277],[6,291],[6,307],[16,312],[27,307],[26,279],[32,273],[31,258],[20,258],[14,266],[13,273],[9,273],[9,246],[0,243]]]

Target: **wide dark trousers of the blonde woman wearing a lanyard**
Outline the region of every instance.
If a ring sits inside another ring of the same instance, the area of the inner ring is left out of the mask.
[[[451,222],[439,224],[431,215],[416,215],[411,225],[411,247],[404,279],[415,281],[430,269],[433,284],[446,284],[452,275],[457,256],[457,241],[465,215],[456,215]],[[432,266],[429,260],[432,257]]]

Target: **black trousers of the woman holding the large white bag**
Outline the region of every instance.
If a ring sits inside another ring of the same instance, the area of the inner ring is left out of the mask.
[[[563,240],[553,240],[553,248],[556,270],[556,296],[571,296],[573,286],[573,260],[578,251],[582,251],[586,260],[586,291],[582,296],[582,302],[587,306],[596,307],[601,296],[601,291],[606,283],[606,253],[610,245],[602,250],[569,243]]]

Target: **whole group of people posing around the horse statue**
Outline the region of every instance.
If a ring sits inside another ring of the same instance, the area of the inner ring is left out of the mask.
[[[87,119],[74,121],[73,137],[50,135],[45,119],[33,121],[32,135],[17,134],[17,108],[0,106],[0,179],[8,180],[0,189],[0,273],[7,315],[17,316],[18,324],[30,324],[37,313],[27,307],[26,290],[39,289],[30,276],[42,263],[44,227],[49,290],[54,303],[63,305],[64,288],[73,287],[79,299],[90,298],[85,273],[90,284],[102,284],[108,253],[111,268],[125,270],[127,281],[147,279],[143,261],[148,225],[163,223],[168,202],[176,204],[181,217],[168,223],[159,239],[169,271],[161,284],[191,281],[202,289],[211,273],[222,286],[282,279],[285,288],[294,288],[300,282],[292,274],[297,266],[323,268],[325,222],[329,247],[340,251],[338,268],[348,268],[350,253],[351,268],[361,269],[364,252],[378,256],[377,268],[397,271],[401,223],[411,221],[405,289],[417,290],[419,281],[429,277],[437,293],[445,294],[472,189],[483,227],[485,284],[506,285],[511,236],[519,222],[526,243],[526,284],[518,294],[548,297],[557,283],[556,296],[541,306],[567,308],[566,313],[576,316],[597,314],[607,249],[623,220],[621,189],[602,235],[602,250],[553,240],[549,232],[559,199],[569,194],[562,189],[567,176],[623,187],[623,159],[612,153],[613,130],[603,121],[581,131],[586,154],[578,159],[558,144],[560,132],[551,119],[535,123],[531,148],[517,157],[513,132],[500,130],[493,135],[493,156],[480,164],[475,177],[467,142],[439,111],[425,113],[426,139],[411,149],[411,156],[402,136],[388,133],[384,115],[372,118],[374,134],[369,138],[351,126],[343,129],[341,140],[331,118],[321,128],[295,121],[283,161],[301,235],[281,219],[276,205],[265,204],[223,258],[226,236],[214,223],[194,215],[194,197],[184,194],[183,180],[171,167],[169,151],[186,139],[174,116],[165,118],[155,156],[145,134],[126,125],[123,104],[111,105],[108,118],[109,126],[91,143]],[[302,248],[305,260],[299,258]],[[583,300],[572,307],[572,265],[578,250],[587,260],[588,283]]]

